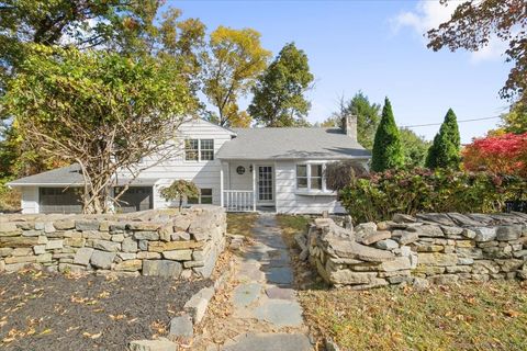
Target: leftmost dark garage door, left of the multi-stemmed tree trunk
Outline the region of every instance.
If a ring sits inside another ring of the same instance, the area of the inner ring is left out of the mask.
[[[40,188],[40,213],[81,213],[80,189]]]

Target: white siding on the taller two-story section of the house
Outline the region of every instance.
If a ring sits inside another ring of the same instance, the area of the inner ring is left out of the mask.
[[[220,205],[220,168],[221,162],[216,159],[217,150],[225,141],[231,140],[232,132],[203,120],[194,120],[180,127],[179,144],[175,145],[177,151],[162,163],[155,165],[141,172],[138,179],[158,179],[154,186],[154,208],[166,207],[169,204],[160,196],[159,190],[169,185],[172,181],[183,179],[194,182],[199,188],[212,189],[213,203]],[[186,138],[214,139],[214,160],[212,161],[186,161],[183,143]],[[141,167],[155,163],[155,159],[144,159]]]

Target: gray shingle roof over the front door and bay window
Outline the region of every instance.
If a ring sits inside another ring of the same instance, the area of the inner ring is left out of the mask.
[[[357,140],[340,128],[234,128],[218,159],[352,159],[370,158]]]

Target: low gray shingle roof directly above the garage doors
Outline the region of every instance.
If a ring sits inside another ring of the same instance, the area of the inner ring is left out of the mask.
[[[153,185],[158,179],[135,179],[131,185]],[[127,183],[127,179],[119,179],[119,184]],[[48,185],[48,186],[74,186],[82,185],[83,179],[80,174],[79,165],[70,165],[57,168],[47,172],[24,177],[9,182],[10,186],[30,186],[30,185]]]

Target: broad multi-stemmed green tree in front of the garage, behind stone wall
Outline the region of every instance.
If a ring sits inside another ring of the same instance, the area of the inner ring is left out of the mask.
[[[141,158],[172,156],[167,141],[191,106],[184,77],[160,59],[42,45],[27,48],[0,100],[34,149],[80,166],[87,213],[109,211],[117,171],[131,181]]]

